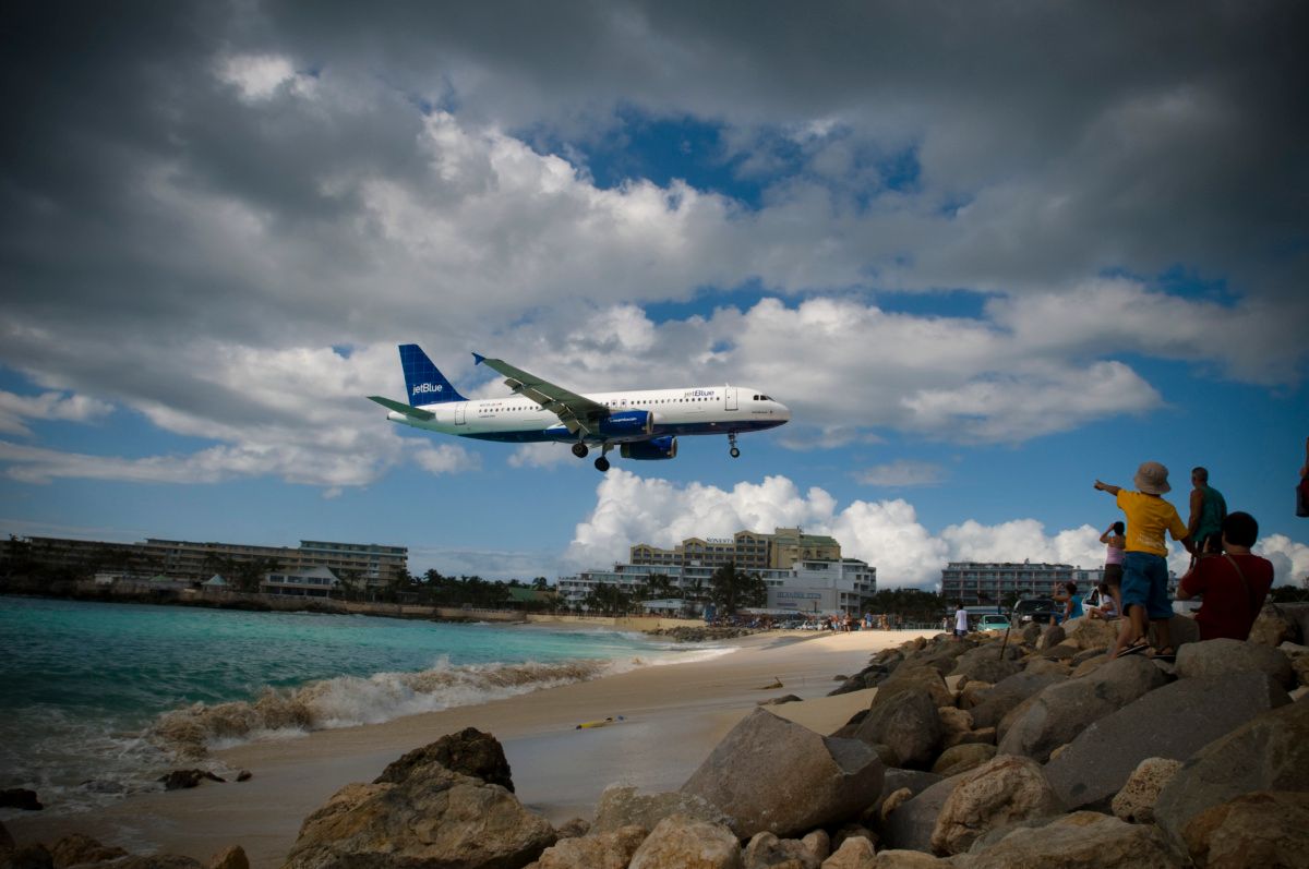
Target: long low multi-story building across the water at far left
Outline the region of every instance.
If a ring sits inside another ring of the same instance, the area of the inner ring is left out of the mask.
[[[329,568],[361,585],[385,585],[408,569],[408,550],[376,543],[301,541],[300,546],[198,543],[151,538],[144,543],[105,543],[33,537],[0,542],[0,555],[24,558],[46,568],[92,576],[117,572],[136,577],[203,581],[233,567],[260,563],[270,571],[304,573]]]

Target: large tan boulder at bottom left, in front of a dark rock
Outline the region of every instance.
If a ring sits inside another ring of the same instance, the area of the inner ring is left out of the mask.
[[[401,783],[348,784],[305,818],[287,869],[524,866],[554,844],[512,793],[440,763]]]

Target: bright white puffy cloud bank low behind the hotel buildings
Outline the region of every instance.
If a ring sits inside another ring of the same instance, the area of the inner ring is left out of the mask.
[[[601,568],[626,561],[635,543],[666,548],[689,537],[795,526],[835,537],[843,555],[877,567],[881,588],[933,589],[949,561],[1031,560],[1096,568],[1105,560],[1100,531],[1085,525],[1050,533],[1037,520],[997,525],[970,520],[933,534],[903,499],[839,506],[823,489],[801,492],[784,476],[742,482],[725,491],[614,470],[597,487],[596,506],[577,525],[563,563],[569,569]],[[1183,568],[1185,561],[1181,558]]]

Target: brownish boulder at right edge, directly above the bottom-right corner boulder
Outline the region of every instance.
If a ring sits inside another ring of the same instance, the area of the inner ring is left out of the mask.
[[[1155,819],[1179,843],[1202,811],[1254,790],[1309,790],[1309,703],[1264,712],[1191,755],[1158,794]]]

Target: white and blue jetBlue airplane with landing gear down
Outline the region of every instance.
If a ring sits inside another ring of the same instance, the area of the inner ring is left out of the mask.
[[[386,419],[441,434],[484,441],[572,444],[577,458],[601,453],[596,470],[609,470],[615,448],[628,459],[677,457],[677,438],[726,434],[732,458],[741,455],[737,434],[776,428],[791,419],[785,404],[749,386],[620,390],[579,395],[499,359],[473,353],[475,364],[505,377],[512,398],[470,400],[432,364],[418,344],[401,344],[408,404],[381,395]]]

